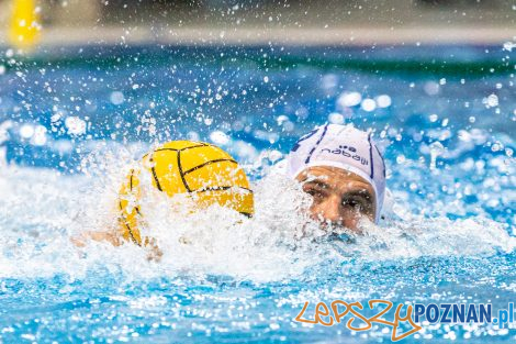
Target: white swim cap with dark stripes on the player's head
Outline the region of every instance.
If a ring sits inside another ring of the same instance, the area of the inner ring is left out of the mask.
[[[332,166],[362,177],[375,193],[377,212],[380,220],[385,192],[385,164],[371,134],[352,124],[325,124],[301,137],[287,157],[287,175],[298,177],[313,166]]]

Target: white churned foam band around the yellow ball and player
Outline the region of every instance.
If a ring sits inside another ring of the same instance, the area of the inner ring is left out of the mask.
[[[489,219],[428,219],[407,213],[380,226],[364,223],[364,235],[325,240],[324,231],[305,214],[310,198],[281,175],[254,184],[256,214],[251,219],[215,206],[192,213],[188,207],[178,207],[187,200],[166,198],[144,178],[148,195],[142,200],[147,221],[143,234],[157,240],[164,253],[160,262],[148,262],[148,253],[133,244],[114,247],[89,242],[86,247],[76,247],[71,236],[116,225],[116,191],[130,155],[122,159],[117,155],[112,162],[104,156],[102,166],[87,164],[90,168],[94,165],[97,171],[75,176],[3,167],[0,277],[64,274],[72,280],[104,269],[125,279],[218,275],[265,282],[303,278],[321,264],[493,255],[516,247],[516,238]]]

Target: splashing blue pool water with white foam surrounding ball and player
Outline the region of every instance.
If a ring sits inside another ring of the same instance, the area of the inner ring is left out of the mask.
[[[516,299],[515,53],[503,46],[0,49],[0,342],[380,343],[390,329],[294,321],[305,301]],[[372,130],[395,201],[352,243],[273,174],[326,121]],[[128,164],[214,142],[256,215],[147,204],[164,251],[70,237],[110,228]],[[300,206],[301,204],[301,206]],[[309,237],[299,232],[312,230]],[[187,236],[182,245],[178,237]],[[404,328],[407,329],[407,328]],[[425,324],[403,342],[507,342],[516,324]]]

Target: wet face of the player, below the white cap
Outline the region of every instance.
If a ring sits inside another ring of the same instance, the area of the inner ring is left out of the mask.
[[[316,166],[298,176],[303,191],[313,197],[311,217],[323,225],[359,232],[362,217],[374,220],[374,190],[363,178],[340,168]]]

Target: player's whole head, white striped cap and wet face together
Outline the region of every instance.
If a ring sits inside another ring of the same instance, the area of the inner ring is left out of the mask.
[[[351,230],[362,217],[378,223],[385,165],[370,134],[350,124],[325,124],[301,137],[287,160],[288,175],[314,198],[314,219]]]

